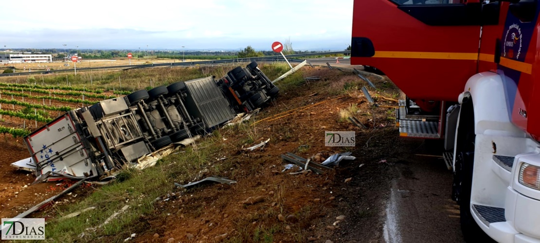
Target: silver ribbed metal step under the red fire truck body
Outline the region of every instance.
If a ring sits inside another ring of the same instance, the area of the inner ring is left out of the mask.
[[[421,120],[399,120],[400,137],[440,138],[438,124]]]

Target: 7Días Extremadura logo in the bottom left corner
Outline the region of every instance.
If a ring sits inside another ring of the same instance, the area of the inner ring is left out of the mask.
[[[2,240],[44,240],[45,219],[2,219]]]

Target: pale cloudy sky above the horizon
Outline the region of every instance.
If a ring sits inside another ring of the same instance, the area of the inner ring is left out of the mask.
[[[0,48],[342,50],[353,0],[3,1]],[[185,46],[185,48],[182,48]]]

